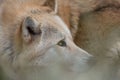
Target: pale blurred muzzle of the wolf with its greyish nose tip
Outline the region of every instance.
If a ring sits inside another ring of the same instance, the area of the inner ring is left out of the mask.
[[[95,65],[96,59],[94,56],[84,51],[81,48],[75,50],[74,56],[72,56],[71,70],[78,73],[83,73],[91,69]]]

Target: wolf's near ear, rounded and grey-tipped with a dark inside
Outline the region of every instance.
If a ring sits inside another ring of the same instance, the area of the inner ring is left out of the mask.
[[[22,37],[25,42],[30,42],[34,36],[40,35],[40,25],[31,17],[25,18],[22,24]]]

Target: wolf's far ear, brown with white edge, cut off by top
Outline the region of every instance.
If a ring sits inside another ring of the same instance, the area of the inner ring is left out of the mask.
[[[49,6],[54,12],[58,13],[58,1],[57,0],[46,0],[44,6]]]

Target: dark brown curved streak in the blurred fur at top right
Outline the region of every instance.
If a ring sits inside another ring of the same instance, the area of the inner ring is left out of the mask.
[[[108,5],[103,5],[103,6],[96,8],[94,11],[98,12],[98,11],[119,10],[119,9],[120,9],[120,5],[108,4]]]

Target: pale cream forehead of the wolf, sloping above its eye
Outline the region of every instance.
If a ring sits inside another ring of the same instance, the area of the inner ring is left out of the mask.
[[[40,25],[43,25],[43,27],[48,26],[49,29],[55,33],[60,30],[69,36],[71,35],[68,26],[56,13],[52,12],[52,10],[46,9],[46,11],[43,11],[41,9],[34,9],[31,10],[30,13],[30,16],[37,20]]]

